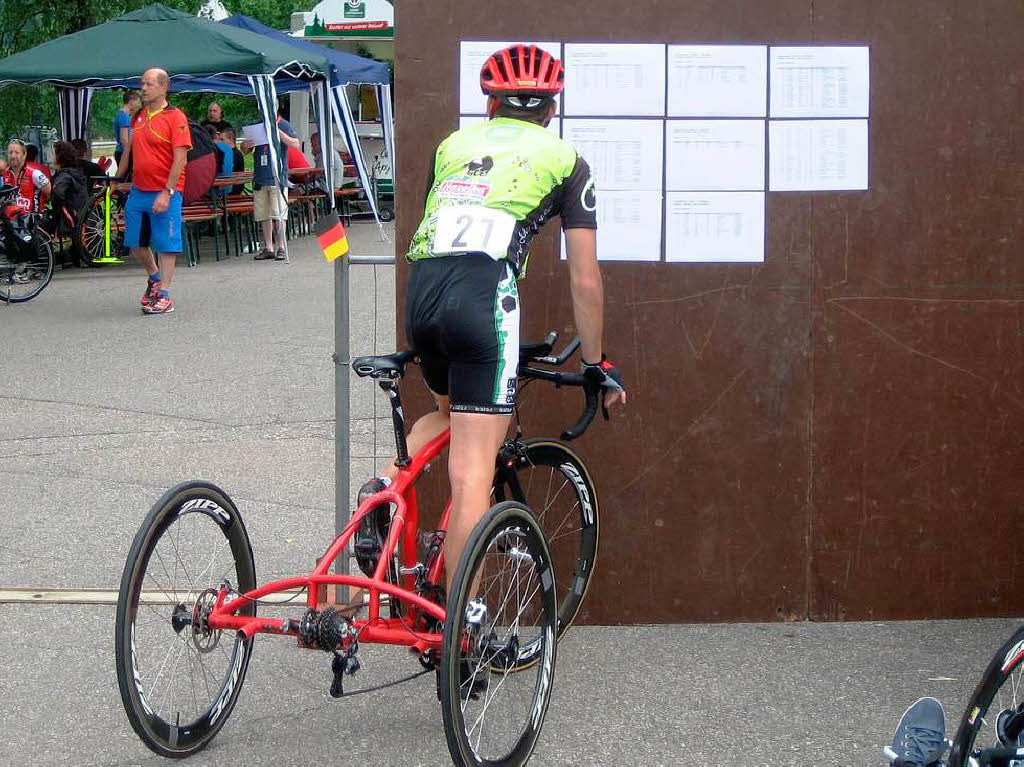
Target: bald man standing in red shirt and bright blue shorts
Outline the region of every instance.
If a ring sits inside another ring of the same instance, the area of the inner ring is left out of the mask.
[[[132,164],[125,245],[150,275],[141,300],[145,314],[174,311],[169,291],[174,259],[181,252],[181,195],[191,148],[188,119],[167,103],[168,81],[163,70],[146,70],[142,75],[142,108],[132,118],[131,144],[118,163],[119,178]]]

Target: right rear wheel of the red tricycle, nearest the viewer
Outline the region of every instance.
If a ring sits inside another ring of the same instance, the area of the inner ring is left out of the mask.
[[[507,501],[476,523],[445,607],[439,688],[444,734],[460,767],[521,765],[551,699],[557,644],[554,571],[529,510]],[[540,663],[519,667],[521,648]]]

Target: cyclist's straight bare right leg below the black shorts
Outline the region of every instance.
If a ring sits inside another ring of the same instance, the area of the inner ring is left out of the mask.
[[[452,579],[459,557],[473,527],[490,507],[495,481],[495,458],[509,430],[512,416],[485,413],[453,413],[452,442],[449,445],[449,478],[452,481],[452,514],[444,538],[445,585]]]

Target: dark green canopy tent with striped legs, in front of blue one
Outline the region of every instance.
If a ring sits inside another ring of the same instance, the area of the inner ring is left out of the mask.
[[[160,3],[0,59],[0,86],[55,85],[61,137],[69,140],[84,136],[93,88],[118,87],[153,67],[168,72],[172,91],[206,90],[203,79],[210,77],[247,83],[259,103],[271,166],[282,184],[275,82],[308,83],[319,133],[331,135],[330,63],[324,55]]]

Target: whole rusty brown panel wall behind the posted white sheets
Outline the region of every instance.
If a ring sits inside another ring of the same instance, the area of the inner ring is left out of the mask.
[[[460,39],[871,46],[869,191],[769,194],[764,265],[603,265],[605,347],[631,403],[579,445],[603,524],[585,620],[1017,610],[1015,547],[992,553],[986,535],[1022,489],[1024,136],[1011,56],[1022,19],[1010,2],[983,8],[399,4],[399,256],[432,148],[457,123]],[[556,247],[548,231],[534,250],[524,338],[572,333]],[[399,305],[403,279],[399,268]],[[426,407],[422,389],[410,402]],[[540,384],[524,402],[532,434],[579,407]],[[435,509],[442,480],[424,494]]]

